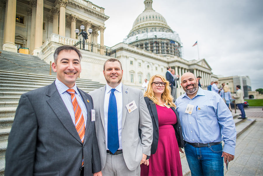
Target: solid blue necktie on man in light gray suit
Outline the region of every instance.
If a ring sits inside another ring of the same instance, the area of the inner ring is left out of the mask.
[[[115,153],[119,148],[117,103],[114,95],[116,89],[111,89],[108,108],[108,149]]]

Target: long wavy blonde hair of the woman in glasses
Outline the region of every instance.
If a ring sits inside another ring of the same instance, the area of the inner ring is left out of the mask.
[[[144,93],[144,97],[148,97],[150,98],[155,104],[158,104],[158,99],[155,97],[154,92],[153,92],[153,88],[152,88],[152,84],[153,84],[153,80],[154,78],[161,78],[163,82],[166,83],[165,85],[165,90],[162,93],[162,101],[165,102],[165,105],[169,106],[169,107],[174,107],[176,108],[174,102],[173,102],[173,97],[171,95],[171,87],[169,86],[169,81],[167,81],[162,75],[154,75],[150,78],[149,83],[148,83],[148,87],[146,92]]]

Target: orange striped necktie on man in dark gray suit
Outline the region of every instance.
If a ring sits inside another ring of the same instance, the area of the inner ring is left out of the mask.
[[[79,104],[77,102],[76,96],[75,96],[75,90],[74,89],[68,89],[67,92],[71,95],[72,105],[75,112],[75,127],[77,129],[77,132],[79,134],[79,137],[83,143],[84,141],[84,135],[85,135],[85,121],[83,114],[81,112],[81,109],[79,107]]]

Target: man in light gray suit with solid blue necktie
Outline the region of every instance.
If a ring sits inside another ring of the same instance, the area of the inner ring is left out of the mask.
[[[153,124],[141,90],[125,86],[122,65],[108,59],[106,86],[90,92],[96,112],[96,134],[103,175],[140,175],[153,140]],[[141,129],[141,138],[138,127]]]

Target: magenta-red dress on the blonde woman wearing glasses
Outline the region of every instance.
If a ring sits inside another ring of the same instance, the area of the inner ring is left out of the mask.
[[[178,143],[173,124],[177,118],[172,108],[156,105],[159,121],[159,140],[149,166],[141,164],[141,176],[183,175]]]

